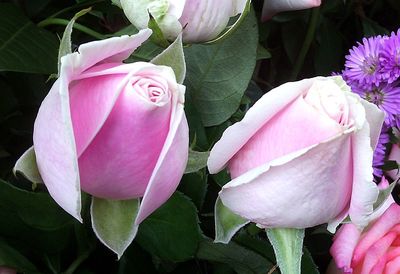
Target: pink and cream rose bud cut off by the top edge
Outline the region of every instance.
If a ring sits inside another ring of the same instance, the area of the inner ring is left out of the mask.
[[[120,3],[135,27],[147,28],[150,13],[168,40],[183,32],[183,40],[193,43],[216,38],[230,17],[243,12],[246,0],[120,0]]]

